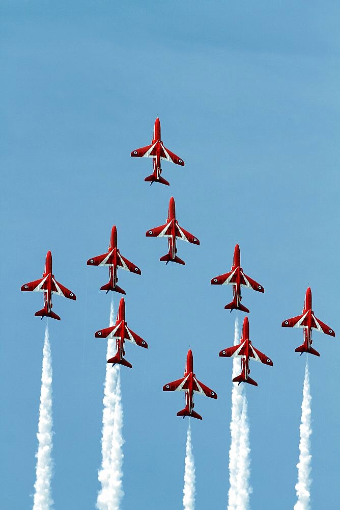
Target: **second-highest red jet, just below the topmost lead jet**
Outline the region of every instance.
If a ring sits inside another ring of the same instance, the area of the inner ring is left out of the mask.
[[[166,253],[159,260],[164,262],[165,265],[168,262],[178,262],[179,264],[183,264],[185,266],[185,262],[177,257],[177,248],[176,248],[176,240],[181,239],[182,241],[187,241],[192,244],[200,244],[200,241],[194,237],[190,232],[187,232],[179,226],[178,221],[176,219],[176,210],[175,210],[175,200],[172,196],[169,201],[169,209],[167,213],[167,220],[165,225],[156,226],[151,230],[148,230],[146,233],[147,237],[167,237],[168,238],[168,246],[169,252]]]

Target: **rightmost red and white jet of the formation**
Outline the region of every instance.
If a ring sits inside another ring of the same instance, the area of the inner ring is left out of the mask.
[[[298,315],[297,317],[293,317],[292,319],[287,319],[282,322],[282,327],[302,327],[303,328],[303,344],[295,349],[295,352],[309,352],[309,354],[315,354],[316,356],[320,356],[319,352],[313,347],[311,344],[313,340],[311,339],[311,331],[312,329],[317,329],[321,331],[321,333],[325,333],[326,335],[330,335],[331,337],[335,337],[334,330],[324,324],[320,319],[317,319],[314,315],[314,312],[311,310],[311,290],[310,287],[306,290],[306,297],[304,299],[304,307],[302,311],[302,315]],[[300,354],[300,355],[301,355]]]

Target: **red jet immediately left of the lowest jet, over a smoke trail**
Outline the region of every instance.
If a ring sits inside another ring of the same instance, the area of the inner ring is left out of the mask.
[[[116,324],[114,326],[106,327],[105,329],[100,329],[96,331],[95,338],[115,338],[117,345],[117,352],[113,358],[107,360],[107,363],[124,365],[125,367],[132,368],[131,363],[125,360],[125,341],[131,342],[133,344],[139,345],[139,347],[148,348],[148,344],[143,338],[138,337],[135,333],[133,333],[132,329],[127,327],[127,323],[125,321],[125,302],[124,297],[121,298],[119,303],[119,309],[117,314]]]

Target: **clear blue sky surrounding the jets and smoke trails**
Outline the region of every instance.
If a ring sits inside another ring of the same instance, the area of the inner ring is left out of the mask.
[[[3,2],[0,421],[6,508],[32,504],[44,322],[42,295],[20,293],[53,271],[77,295],[54,298],[55,508],[94,508],[99,489],[108,324],[103,253],[112,224],[126,272],[129,326],[149,344],[127,346],[122,369],[124,508],[181,507],[186,421],[179,378],[190,346],[197,377],[218,400],[197,396],[192,423],[196,509],[224,508],[230,445],[231,288],[210,286],[230,269],[238,242],[247,274],[250,336],[273,360],[252,367],[247,388],[251,507],[295,502],[304,357],[301,330],[280,327],[301,313],[306,287],[316,316],[338,324],[339,36],[337,2]],[[171,187],[144,183],[150,160],[130,151],[151,141],[159,116],[165,145],[185,168],[163,164]],[[169,197],[180,225],[201,246],[179,243],[186,266],[159,262]],[[116,307],[119,296],[115,296]],[[239,314],[240,321],[243,314]],[[314,508],[335,509],[338,473],[338,338],[316,333],[310,359]]]

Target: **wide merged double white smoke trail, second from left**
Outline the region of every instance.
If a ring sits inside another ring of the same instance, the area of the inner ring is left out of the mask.
[[[112,298],[109,325],[112,326],[114,323],[114,300]],[[106,359],[112,358],[116,354],[116,350],[116,340],[108,339]],[[116,405],[117,402],[118,405]],[[120,463],[117,462],[119,457],[118,451],[123,445],[123,439],[121,438],[123,411],[119,365],[112,367],[110,364],[106,364],[103,404],[102,463],[98,471],[101,489],[97,496],[96,507],[98,510],[119,510],[121,498],[124,495],[121,481],[123,476],[121,469],[122,459]],[[123,458],[122,453],[121,456]],[[116,473],[117,466],[119,466],[120,475]]]

